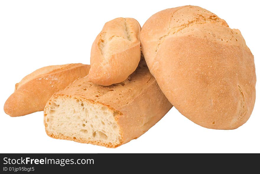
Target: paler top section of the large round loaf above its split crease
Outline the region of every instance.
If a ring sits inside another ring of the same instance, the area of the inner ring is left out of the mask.
[[[140,33],[142,50],[148,67],[150,68],[157,50],[167,37],[178,36],[182,29],[205,23],[228,27],[225,20],[198,6],[180,6],[165,9],[152,15],[144,23]],[[148,57],[149,59],[147,59]]]

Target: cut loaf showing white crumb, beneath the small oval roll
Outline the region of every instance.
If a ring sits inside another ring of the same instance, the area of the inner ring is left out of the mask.
[[[53,94],[46,104],[44,124],[50,137],[114,148],[137,139],[172,107],[144,59],[121,83],[95,85],[88,76]]]

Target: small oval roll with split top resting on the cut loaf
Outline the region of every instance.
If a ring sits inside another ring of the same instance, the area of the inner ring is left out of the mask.
[[[91,82],[105,86],[120,83],[134,72],[140,61],[140,30],[133,18],[105,23],[91,48]]]

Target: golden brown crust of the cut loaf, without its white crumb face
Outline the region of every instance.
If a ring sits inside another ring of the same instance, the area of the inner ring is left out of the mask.
[[[56,97],[77,98],[112,108],[115,111],[114,118],[122,131],[120,144],[108,146],[98,144],[98,142],[76,140],[106,147],[117,147],[138,138],[172,107],[157,85],[155,78],[150,74],[143,58],[137,70],[122,83],[111,86],[95,85],[90,82],[87,75],[79,78],[64,90],[55,93],[50,101]],[[45,106],[44,114],[47,114],[45,111],[48,110],[48,107],[49,103]],[[66,139],[75,141],[71,138]]]

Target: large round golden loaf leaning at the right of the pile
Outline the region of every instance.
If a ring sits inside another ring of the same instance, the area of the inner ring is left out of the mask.
[[[198,6],[165,9],[142,27],[150,72],[168,100],[191,121],[235,129],[254,108],[254,56],[238,29]]]

